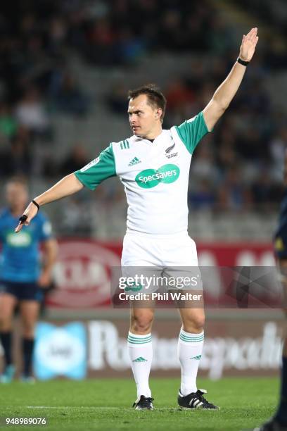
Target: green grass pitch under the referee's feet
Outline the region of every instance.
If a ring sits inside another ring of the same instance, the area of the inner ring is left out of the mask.
[[[44,426],[8,426],[7,430],[251,430],[272,416],[279,382],[267,378],[198,380],[219,411],[177,407],[177,379],[152,379],[153,411],[134,411],[132,380],[55,380],[0,387],[0,416],[48,419]]]

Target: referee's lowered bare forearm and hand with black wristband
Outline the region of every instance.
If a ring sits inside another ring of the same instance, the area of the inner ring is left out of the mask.
[[[79,192],[84,187],[74,173],[63,177],[62,180],[58,181],[51,189],[46,192],[39,194],[35,197],[25,209],[23,215],[19,219],[19,224],[15,227],[15,232],[19,232],[22,227],[29,225],[32,218],[37,215],[39,207],[49,202],[57,201],[65,196]]]

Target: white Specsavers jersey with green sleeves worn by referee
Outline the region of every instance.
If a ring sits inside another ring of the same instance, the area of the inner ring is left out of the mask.
[[[108,148],[75,172],[94,190],[117,175],[127,196],[127,231],[172,234],[187,230],[189,166],[196,145],[208,133],[203,112],[153,142],[133,135]]]

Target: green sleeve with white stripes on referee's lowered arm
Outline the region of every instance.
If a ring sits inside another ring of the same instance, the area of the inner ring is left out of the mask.
[[[109,177],[115,177],[115,156],[113,145],[103,150],[101,154],[84,168],[74,172],[77,179],[90,190],[96,189],[98,185]]]

